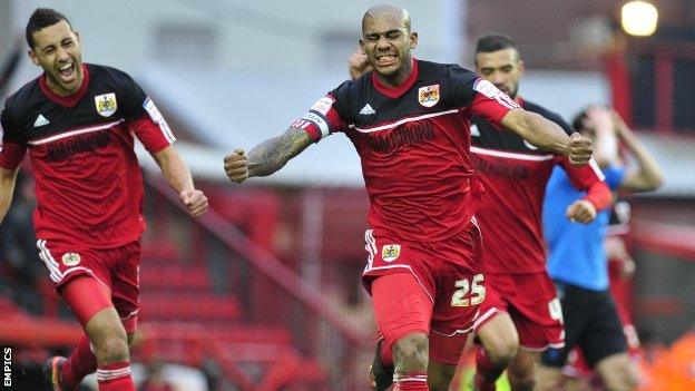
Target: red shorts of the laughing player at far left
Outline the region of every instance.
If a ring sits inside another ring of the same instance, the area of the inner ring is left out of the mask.
[[[138,296],[139,296],[139,262],[140,241],[135,241],[115,248],[90,248],[58,241],[37,241],[39,257],[48,267],[50,278],[56,291],[61,294],[61,287],[79,275],[94,277],[110,292],[111,303],[124,323],[126,332],[135,332],[137,328]],[[61,294],[62,295],[62,294]],[[66,301],[87,300],[80,295],[69,295]],[[90,313],[89,307],[97,305],[94,301],[86,303],[70,303],[76,317],[85,325],[88,319],[84,313]]]

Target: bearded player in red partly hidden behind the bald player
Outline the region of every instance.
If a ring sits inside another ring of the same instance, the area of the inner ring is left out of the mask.
[[[523,61],[509,37],[490,35],[478,40],[478,74],[523,107],[574,133],[560,116],[518,95]],[[574,167],[567,157],[538,150],[518,135],[500,131],[474,116],[471,157],[486,194],[477,212],[484,237],[481,263],[487,296],[474,330],[474,389],[495,390],[507,368],[512,390],[532,390],[535,369],[548,346],[564,345],[562,313],[555,285],[546,271],[541,231],[542,199],[555,166],[586,195],[569,207],[567,218],[590,223],[611,203],[596,163]]]

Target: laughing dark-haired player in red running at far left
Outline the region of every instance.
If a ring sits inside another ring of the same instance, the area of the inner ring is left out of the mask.
[[[97,372],[100,391],[134,391],[128,342],[138,314],[143,176],[135,135],[192,216],[207,209],[155,104],[125,72],[81,60],[68,19],[37,9],[27,23],[31,61],[43,69],[10,96],[0,124],[0,218],[26,151],[36,175],[39,256],[86,335],[68,358],[52,358],[53,390]]]

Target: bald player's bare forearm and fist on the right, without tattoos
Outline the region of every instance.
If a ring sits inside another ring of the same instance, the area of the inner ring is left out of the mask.
[[[502,126],[540,149],[567,156],[575,166],[584,166],[591,158],[590,139],[578,133],[567,136],[562,128],[539,114],[515,108],[502,118]]]

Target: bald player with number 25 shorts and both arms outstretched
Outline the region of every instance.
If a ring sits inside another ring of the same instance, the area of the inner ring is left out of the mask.
[[[239,148],[224,162],[227,176],[241,183],[275,173],[332,133],[346,134],[371,203],[363,281],[383,336],[375,388],[448,390],[486,295],[472,217],[482,186],[469,159],[470,117],[577,165],[589,160],[591,147],[469,70],[413,59],[418,35],[410,27],[404,9],[372,7],[360,46],[373,71],[329,92],[248,156]]]

